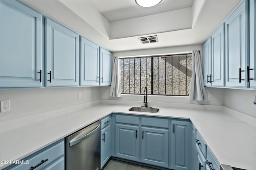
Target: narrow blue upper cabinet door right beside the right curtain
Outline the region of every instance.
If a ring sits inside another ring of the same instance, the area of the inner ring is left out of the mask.
[[[211,38],[209,38],[203,45],[204,57],[204,86],[211,86]]]

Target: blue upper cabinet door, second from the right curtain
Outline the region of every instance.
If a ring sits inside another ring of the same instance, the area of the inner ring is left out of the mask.
[[[224,25],[212,34],[212,86],[224,86]]]

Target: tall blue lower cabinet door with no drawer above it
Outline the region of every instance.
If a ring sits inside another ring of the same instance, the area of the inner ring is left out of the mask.
[[[172,121],[171,169],[190,168],[190,122]]]

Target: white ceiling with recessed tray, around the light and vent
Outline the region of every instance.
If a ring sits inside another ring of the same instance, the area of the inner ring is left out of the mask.
[[[203,44],[242,0],[22,0],[110,51]],[[82,22],[83,23],[82,23]],[[141,44],[138,37],[158,36]]]

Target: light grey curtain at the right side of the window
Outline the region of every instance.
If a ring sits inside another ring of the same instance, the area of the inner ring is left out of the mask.
[[[204,88],[204,77],[202,73],[201,57],[197,50],[192,52],[192,77],[190,84],[189,100],[208,100]]]

